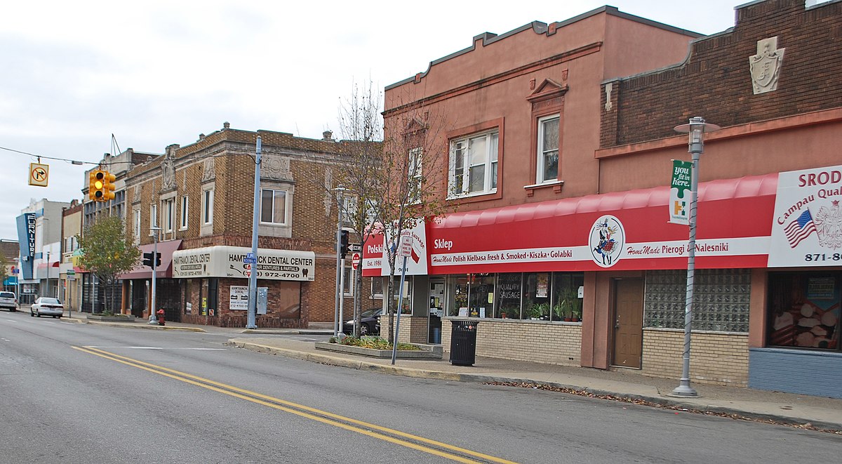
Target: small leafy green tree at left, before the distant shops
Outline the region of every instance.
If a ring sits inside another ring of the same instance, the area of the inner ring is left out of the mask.
[[[82,251],[79,265],[96,275],[107,287],[112,287],[111,298],[105,299],[104,309],[108,312],[109,300],[114,297],[111,284],[114,284],[117,275],[135,268],[141,258],[141,250],[126,237],[125,225],[118,216],[100,216],[76,238]]]

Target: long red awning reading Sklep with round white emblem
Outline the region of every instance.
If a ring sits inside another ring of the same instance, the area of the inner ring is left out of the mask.
[[[700,185],[697,267],[766,266],[777,177]],[[664,186],[450,214],[429,222],[429,274],[685,269],[668,205]]]

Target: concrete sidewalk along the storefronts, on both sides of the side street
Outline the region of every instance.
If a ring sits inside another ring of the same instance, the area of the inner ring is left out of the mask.
[[[648,403],[699,413],[715,413],[738,419],[753,419],[780,424],[796,425],[805,429],[823,429],[842,435],[842,399],[767,392],[744,387],[721,387],[694,383],[699,397],[670,397],[678,379],[643,376],[639,371],[619,369],[602,371],[585,367],[546,365],[518,360],[503,360],[477,356],[473,366],[451,365],[448,352],[441,360],[402,360],[392,365],[391,359],[370,358],[316,349],[314,341],[296,340],[273,336],[290,333],[330,334],[324,328],[310,329],[258,329],[216,328],[185,323],[167,323],[166,326],[149,325],[147,321],[135,323],[105,323],[88,321],[84,315],[74,313],[77,323],[97,325],[152,328],[158,330],[190,330],[207,332],[225,331],[232,334],[227,344],[262,353],[272,353],[298,360],[325,365],[337,365],[361,371],[376,371],[397,376],[512,384],[535,387],[594,397],[610,397],[621,401]],[[67,319],[65,319],[67,320]],[[237,338],[237,333],[264,334],[265,337]],[[445,347],[447,348],[447,347]],[[692,369],[692,366],[690,366]]]

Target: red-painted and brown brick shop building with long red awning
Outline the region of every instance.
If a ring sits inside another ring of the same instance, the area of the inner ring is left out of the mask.
[[[472,320],[478,355],[678,379],[688,227],[668,221],[687,197],[669,181],[690,158],[674,127],[702,116],[722,130],[701,158],[691,379],[842,397],[842,3],[735,10],[700,37],[603,7],[387,87],[387,126],[454,115],[425,156],[446,158],[458,212],[427,223],[399,336],[443,317],[446,348]]]

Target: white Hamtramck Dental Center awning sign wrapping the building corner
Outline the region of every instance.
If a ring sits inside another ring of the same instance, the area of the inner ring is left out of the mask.
[[[173,277],[232,277],[248,279],[303,280],[316,278],[316,253],[297,250],[258,249],[257,264],[245,262],[251,248],[207,247],[173,253]]]

